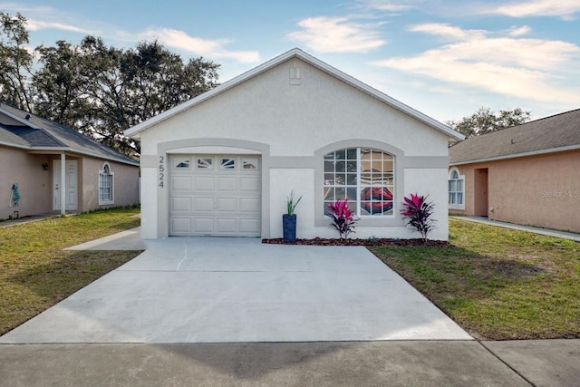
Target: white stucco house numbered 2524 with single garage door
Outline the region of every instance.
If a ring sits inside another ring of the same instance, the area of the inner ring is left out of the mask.
[[[448,141],[463,136],[293,49],[125,131],[141,143],[141,233],[338,237],[327,205],[348,198],[353,237],[420,237],[403,196],[435,202],[433,239],[448,238]]]

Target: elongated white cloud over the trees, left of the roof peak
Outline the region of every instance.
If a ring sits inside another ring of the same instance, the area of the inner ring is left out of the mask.
[[[224,48],[231,43],[227,39],[208,40],[195,36],[189,36],[183,31],[171,28],[149,29],[140,34],[140,38],[145,40],[157,39],[161,44],[189,53],[196,53],[216,59],[233,59],[240,63],[256,63],[260,60],[260,55],[256,51],[228,51]]]

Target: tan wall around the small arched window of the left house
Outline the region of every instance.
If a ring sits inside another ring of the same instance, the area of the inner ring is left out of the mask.
[[[114,203],[99,206],[99,170],[105,160],[84,158],[82,160],[82,211],[95,208],[124,207],[139,203],[139,168],[114,161],[106,161],[114,174]],[[81,184],[81,182],[79,182]]]

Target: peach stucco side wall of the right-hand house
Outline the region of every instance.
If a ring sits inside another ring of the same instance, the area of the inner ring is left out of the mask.
[[[488,169],[488,217],[580,232],[580,150],[459,165],[465,175],[465,211],[474,215],[477,169]]]

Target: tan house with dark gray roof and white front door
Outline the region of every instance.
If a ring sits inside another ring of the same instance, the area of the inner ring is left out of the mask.
[[[139,202],[138,162],[5,103],[0,103],[0,165],[0,219]]]

